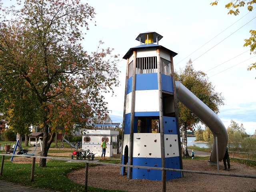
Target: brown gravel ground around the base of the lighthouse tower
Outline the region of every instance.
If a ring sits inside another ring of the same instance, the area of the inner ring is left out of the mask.
[[[216,166],[208,166],[205,160],[183,160],[184,170],[196,170],[205,172],[217,172]],[[256,168],[250,168],[243,164],[231,163],[230,171],[222,170],[220,173],[246,174],[256,176]],[[68,174],[68,178],[79,184],[84,184],[85,169],[76,170]],[[126,190],[130,192],[160,192],[161,181],[129,180],[127,176],[119,174],[119,168],[115,166],[95,166],[88,169],[88,186]],[[206,174],[184,173],[183,178],[169,180],[166,183],[166,191],[175,192],[250,192],[256,190],[256,179],[239,178],[230,176],[215,176]]]

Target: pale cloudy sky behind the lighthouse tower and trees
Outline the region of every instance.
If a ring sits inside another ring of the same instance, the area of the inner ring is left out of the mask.
[[[234,120],[248,134],[255,132],[256,71],[247,68],[256,57],[243,45],[249,30],[255,29],[256,10],[241,8],[238,16],[230,15],[223,0],[218,6],[211,6],[212,0],[83,2],[97,13],[96,26],[89,22],[84,49],[95,51],[102,40],[102,48],[114,48],[114,54],[120,54],[120,86],[115,88],[116,96],[106,95],[113,122],[123,121],[126,60],[122,57],[129,48],[140,45],[135,40],[140,33],[154,31],[163,36],[160,45],[178,53],[174,70],[184,68],[191,59],[194,69],[205,72],[215,91],[225,98],[218,114],[225,127]]]

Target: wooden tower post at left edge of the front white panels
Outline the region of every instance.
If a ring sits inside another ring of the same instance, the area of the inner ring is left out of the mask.
[[[133,133],[134,133],[134,110],[135,110],[135,88],[136,88],[136,65],[137,52],[133,52],[133,72],[132,72],[132,99],[131,99],[131,121],[130,121],[130,147],[129,147],[129,165],[132,165],[133,154]],[[132,168],[129,168],[128,179],[132,178]]]

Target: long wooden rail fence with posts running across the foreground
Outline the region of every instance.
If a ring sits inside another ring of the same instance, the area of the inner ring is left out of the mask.
[[[2,163],[1,163],[1,170],[0,170],[0,175],[3,173],[3,168],[4,168],[4,157],[5,156],[18,156],[20,157],[21,155],[16,155],[16,154],[0,154],[2,156]],[[30,155],[22,155],[25,157],[31,157]],[[68,158],[58,158],[58,157],[42,157],[42,156],[33,156],[32,157],[32,168],[31,168],[31,176],[30,176],[30,181],[34,181],[34,171],[35,171],[35,162],[36,158],[44,158],[44,159],[54,159],[54,160],[62,160],[62,161],[71,161],[71,162],[84,162],[86,164],[85,166],[85,184],[84,188],[87,191],[87,182],[88,182],[88,167],[89,163],[92,164],[99,164],[99,165],[109,165],[109,166],[118,166],[118,167],[130,167],[130,168],[142,168],[142,169],[153,169],[153,170],[162,170],[162,171],[175,171],[175,172],[186,172],[186,173],[195,173],[195,174],[208,174],[208,175],[217,175],[217,176],[231,176],[231,177],[242,177],[242,178],[254,178],[256,179],[256,175],[240,175],[240,174],[227,174],[227,173],[216,173],[216,172],[203,172],[203,171],[193,171],[193,170],[181,170],[181,169],[170,169],[170,168],[160,168],[160,167],[146,167],[146,166],[135,166],[135,165],[122,165],[122,164],[113,164],[113,163],[104,163],[104,162],[92,162],[89,160],[74,160],[74,159],[68,159]],[[163,175],[163,174],[162,174]],[[162,186],[166,186],[166,180],[162,180]],[[162,187],[163,189],[163,187]],[[162,190],[162,192],[166,192],[166,188]]]

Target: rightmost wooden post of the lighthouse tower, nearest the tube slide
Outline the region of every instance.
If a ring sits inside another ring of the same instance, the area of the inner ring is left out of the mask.
[[[178,143],[179,143],[180,169],[183,169],[182,150],[180,147],[180,124],[179,124],[178,103],[177,103],[177,93],[176,93],[176,84],[175,84],[172,53],[170,54],[170,58],[171,58],[171,73],[172,73],[172,85],[173,85],[173,96],[174,96],[174,112],[175,112],[176,123],[177,123],[177,133],[178,133]],[[182,177],[183,177],[183,172],[182,172]]]

